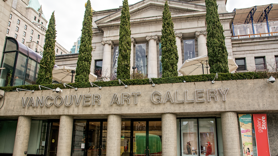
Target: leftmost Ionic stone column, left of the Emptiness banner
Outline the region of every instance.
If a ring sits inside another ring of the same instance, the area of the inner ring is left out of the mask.
[[[102,77],[108,77],[105,81],[110,81],[111,75],[111,50],[114,47],[114,43],[109,41],[102,41],[103,48],[103,59],[102,59]]]

